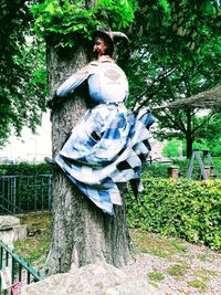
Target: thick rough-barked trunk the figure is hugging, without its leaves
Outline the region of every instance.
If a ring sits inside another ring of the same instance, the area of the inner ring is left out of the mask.
[[[53,46],[49,48],[52,94],[61,82],[87,63],[84,48],[61,53]],[[75,94],[52,112],[53,157],[85,109],[85,97]],[[45,274],[67,272],[72,264],[82,266],[104,261],[123,266],[129,261],[130,239],[125,207],[116,207],[115,217],[103,213],[59,168],[54,170],[52,213],[52,242],[44,266]]]

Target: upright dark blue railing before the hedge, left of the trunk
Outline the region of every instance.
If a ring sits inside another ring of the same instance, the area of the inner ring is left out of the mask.
[[[51,211],[52,175],[0,176],[0,214]]]

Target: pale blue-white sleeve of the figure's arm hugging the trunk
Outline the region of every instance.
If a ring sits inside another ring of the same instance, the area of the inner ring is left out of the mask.
[[[69,77],[56,91],[57,97],[65,97],[67,94],[73,93],[91,74],[90,64],[77,71]]]

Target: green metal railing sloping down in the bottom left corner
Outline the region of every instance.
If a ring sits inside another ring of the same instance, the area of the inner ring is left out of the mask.
[[[8,267],[10,270],[9,284],[21,282],[22,285],[32,282],[39,282],[43,278],[33,266],[25,262],[22,257],[10,250],[3,242],[0,241],[0,272]],[[0,276],[0,294],[8,294],[8,289],[2,289],[2,277]]]

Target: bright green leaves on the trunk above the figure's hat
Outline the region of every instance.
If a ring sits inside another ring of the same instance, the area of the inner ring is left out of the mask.
[[[80,0],[45,0],[33,4],[31,11],[38,34],[61,46],[78,44],[80,39],[88,41],[97,24],[120,29],[134,19],[130,0],[97,0],[94,6]]]

